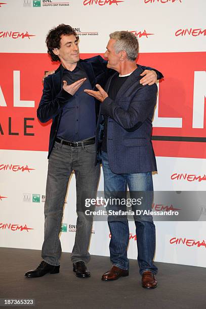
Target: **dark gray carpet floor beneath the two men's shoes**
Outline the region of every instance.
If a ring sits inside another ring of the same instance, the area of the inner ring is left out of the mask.
[[[70,254],[62,253],[59,274],[24,277],[40,261],[39,250],[0,248],[0,298],[34,298],[35,307],[43,309],[206,308],[206,268],[155,263],[158,287],[147,290],[141,286],[135,260],[130,260],[128,277],[104,282],[101,275],[110,269],[109,258],[93,255],[89,264],[92,276],[77,278]]]

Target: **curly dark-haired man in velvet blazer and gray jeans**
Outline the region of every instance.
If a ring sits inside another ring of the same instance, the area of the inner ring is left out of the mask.
[[[43,261],[26,277],[41,277],[59,273],[61,243],[59,233],[64,200],[72,171],[76,178],[76,235],[71,253],[73,271],[77,277],[90,277],[86,264],[90,261],[88,247],[93,218],[85,214],[85,198],[96,198],[100,176],[95,142],[99,102],[84,92],[104,87],[113,70],[100,56],[79,60],[78,36],[69,25],[50,30],[46,39],[52,61],[60,61],[55,74],[44,80],[43,95],[37,109],[38,119],[52,119],[49,142],[49,166],[45,201],[45,238]],[[141,82],[154,83],[162,75],[152,69],[143,72]],[[157,76],[158,75],[158,76]]]

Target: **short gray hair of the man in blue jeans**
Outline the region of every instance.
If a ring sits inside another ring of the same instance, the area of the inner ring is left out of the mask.
[[[114,43],[116,54],[121,52],[121,50],[125,50],[130,61],[135,61],[137,59],[139,43],[134,33],[128,31],[115,31],[110,33],[109,37],[110,39],[116,40]]]

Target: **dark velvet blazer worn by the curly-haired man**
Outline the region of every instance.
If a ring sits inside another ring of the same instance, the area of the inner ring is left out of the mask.
[[[81,66],[85,69],[93,89],[95,89],[96,84],[100,84],[104,88],[108,78],[115,72],[111,69],[107,69],[107,61],[105,61],[101,56],[79,61]],[[142,68],[144,70],[154,70],[148,67]],[[157,78],[162,78],[162,74],[157,70],[155,71],[157,73]],[[37,118],[40,122],[44,123],[52,119],[48,158],[55,143],[63,107],[67,104],[71,97],[71,94],[62,89],[62,72],[59,67],[54,74],[45,78],[43,95],[37,109]],[[95,100],[95,102],[97,121],[100,102],[98,100]]]

